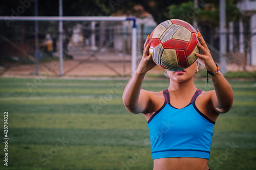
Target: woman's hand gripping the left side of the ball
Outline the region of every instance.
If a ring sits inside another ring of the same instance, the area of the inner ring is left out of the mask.
[[[145,43],[144,43],[144,50],[143,50],[143,56],[139,63],[138,68],[136,69],[136,72],[146,74],[147,71],[151,70],[156,66],[156,63],[154,62],[152,58],[152,54],[150,54],[150,43],[148,41],[150,38],[147,37]]]

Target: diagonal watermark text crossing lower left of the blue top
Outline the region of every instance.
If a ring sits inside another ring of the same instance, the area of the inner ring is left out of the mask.
[[[155,134],[153,135],[154,138],[152,139],[153,143],[157,142],[160,140],[164,134],[168,133],[170,129],[174,127],[174,124],[170,124],[170,120],[163,120],[162,121],[162,126],[159,131],[156,131]],[[130,154],[130,159],[128,159],[126,162],[121,162],[121,170],[130,170],[131,167],[135,166],[137,162],[141,160],[141,157],[145,154],[147,154],[146,148],[148,145],[151,144],[150,138],[147,138],[144,140],[144,145],[145,147],[142,147],[138,149],[138,152],[135,154]]]

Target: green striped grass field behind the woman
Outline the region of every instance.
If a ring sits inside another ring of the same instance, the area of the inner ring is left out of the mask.
[[[232,109],[212,136],[211,169],[256,169],[256,81],[229,81]],[[153,169],[147,123],[122,103],[127,81],[0,78],[0,169]],[[211,82],[210,82],[211,83]],[[196,81],[201,90],[212,89]],[[162,91],[168,80],[144,81]],[[8,112],[8,166],[4,166]]]

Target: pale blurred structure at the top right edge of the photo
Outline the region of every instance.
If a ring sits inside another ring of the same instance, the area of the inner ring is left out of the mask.
[[[250,56],[247,64],[256,65],[256,1],[244,0],[238,4],[238,8],[250,17]]]

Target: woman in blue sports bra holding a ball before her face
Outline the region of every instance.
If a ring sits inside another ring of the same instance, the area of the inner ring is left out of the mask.
[[[220,113],[230,110],[232,88],[222,76],[198,31],[198,61],[211,74],[215,90],[201,91],[194,84],[198,62],[182,71],[167,71],[168,89],[152,92],[141,89],[148,70],[156,66],[149,54],[149,38],[142,59],[123,92],[125,108],[143,113],[151,137],[154,170],[208,170],[212,129]]]

